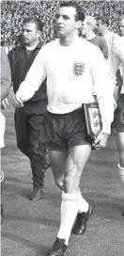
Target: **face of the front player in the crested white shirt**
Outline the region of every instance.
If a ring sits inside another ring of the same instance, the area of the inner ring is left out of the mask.
[[[58,36],[69,36],[76,27],[76,9],[71,7],[59,8],[56,13],[55,28]]]

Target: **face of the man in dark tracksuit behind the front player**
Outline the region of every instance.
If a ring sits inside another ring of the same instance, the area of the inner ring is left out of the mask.
[[[22,35],[25,45],[35,45],[35,42],[37,42],[40,37],[40,32],[38,30],[37,24],[23,24]]]

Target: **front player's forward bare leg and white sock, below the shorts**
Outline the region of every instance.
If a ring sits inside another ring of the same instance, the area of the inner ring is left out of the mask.
[[[90,152],[91,147],[89,145],[72,147],[66,162],[61,204],[61,223],[57,237],[64,238],[67,246],[77,214],[79,212],[87,213],[89,208],[88,203],[80,192],[80,179]]]

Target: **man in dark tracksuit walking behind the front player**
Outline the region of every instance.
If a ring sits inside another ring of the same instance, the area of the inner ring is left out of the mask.
[[[23,20],[22,43],[8,53],[14,93],[23,82],[35,57],[42,47],[40,42],[42,24],[38,18],[28,17]],[[37,80],[37,77],[36,77]],[[46,112],[46,83],[36,94],[26,101],[23,108],[15,109],[15,130],[18,148],[30,160],[33,174],[33,191],[31,200],[43,197],[44,172],[49,167],[46,149],[39,140],[39,133]]]

